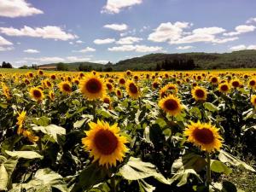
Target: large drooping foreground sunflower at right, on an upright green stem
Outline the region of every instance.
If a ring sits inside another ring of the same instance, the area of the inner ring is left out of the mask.
[[[184,135],[188,137],[188,142],[194,143],[201,150],[212,152],[219,150],[222,146],[222,137],[220,137],[218,130],[210,123],[190,122],[190,125],[184,131]]]

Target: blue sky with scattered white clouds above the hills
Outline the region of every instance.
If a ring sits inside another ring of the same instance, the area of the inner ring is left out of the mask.
[[[0,61],[256,49],[255,0],[0,0]]]

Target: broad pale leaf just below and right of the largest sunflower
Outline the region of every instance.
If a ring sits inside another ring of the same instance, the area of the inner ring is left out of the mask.
[[[127,180],[138,180],[147,177],[154,177],[161,183],[169,184],[162,174],[156,172],[153,164],[143,162],[139,158],[135,157],[130,157],[127,164],[119,169],[119,174]]]

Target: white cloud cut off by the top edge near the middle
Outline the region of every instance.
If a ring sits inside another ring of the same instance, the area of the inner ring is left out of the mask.
[[[143,0],[108,0],[102,9],[102,13],[118,14],[121,9],[129,8],[140,3],[143,3]]]

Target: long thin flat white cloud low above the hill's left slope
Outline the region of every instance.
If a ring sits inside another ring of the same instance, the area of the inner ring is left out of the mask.
[[[155,52],[155,51],[160,51],[162,50],[162,47],[158,47],[158,46],[146,46],[146,45],[129,45],[129,44],[125,44],[119,47],[112,47],[112,48],[108,48],[108,50],[110,51],[136,51],[136,52]]]

